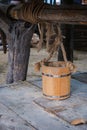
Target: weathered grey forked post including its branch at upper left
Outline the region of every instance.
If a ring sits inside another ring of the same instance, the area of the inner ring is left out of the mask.
[[[11,19],[7,12],[8,6],[0,4],[0,29],[6,36],[9,50],[6,82],[12,83],[26,80],[34,26],[24,21]]]

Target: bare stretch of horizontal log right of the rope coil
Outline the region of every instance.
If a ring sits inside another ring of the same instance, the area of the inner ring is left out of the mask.
[[[43,21],[54,21],[64,24],[87,24],[87,6],[62,5],[56,8],[50,6],[39,16]]]

